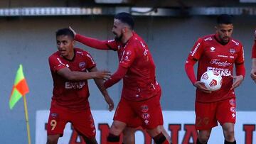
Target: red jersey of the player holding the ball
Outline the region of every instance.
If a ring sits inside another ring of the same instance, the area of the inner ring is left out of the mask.
[[[221,45],[215,35],[199,38],[188,55],[187,62],[198,60],[197,80],[207,70],[215,70],[223,77],[222,87],[211,94],[196,90],[196,101],[214,102],[235,97],[233,84],[233,65],[243,65],[244,54],[242,44],[238,40],[230,39],[226,45]]]

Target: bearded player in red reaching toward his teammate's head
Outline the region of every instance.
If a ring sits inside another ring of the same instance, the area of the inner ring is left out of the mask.
[[[161,133],[163,116],[161,112],[161,87],[156,81],[155,65],[151,52],[142,38],[133,31],[134,20],[129,13],[114,16],[112,32],[114,40],[97,40],[79,34],[75,40],[99,50],[117,51],[119,67],[105,82],[105,88],[123,79],[122,96],[114,114],[114,122],[107,137],[107,143],[119,143],[119,135],[136,118],[142,128],[156,143],[169,143]],[[75,33],[75,31],[74,31]]]

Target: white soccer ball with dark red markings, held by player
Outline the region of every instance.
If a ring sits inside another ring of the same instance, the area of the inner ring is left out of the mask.
[[[221,87],[222,77],[218,72],[208,70],[202,74],[200,81],[203,82],[210,91],[217,91]]]

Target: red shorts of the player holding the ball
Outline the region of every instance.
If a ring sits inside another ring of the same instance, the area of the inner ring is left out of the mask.
[[[213,103],[196,102],[196,129],[208,130],[223,123],[235,123],[235,98]]]

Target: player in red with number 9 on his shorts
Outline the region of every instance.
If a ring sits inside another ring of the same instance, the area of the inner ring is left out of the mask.
[[[47,143],[58,143],[65,124],[70,122],[86,143],[96,144],[87,79],[95,80],[111,111],[114,103],[103,85],[103,79],[110,77],[110,72],[97,71],[90,53],[74,48],[74,34],[70,29],[58,30],[56,42],[58,51],[49,57],[53,97],[47,125]]]

